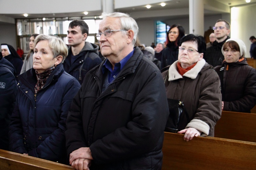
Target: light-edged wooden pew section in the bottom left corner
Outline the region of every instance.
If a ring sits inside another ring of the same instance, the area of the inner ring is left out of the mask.
[[[73,170],[71,166],[0,149],[0,170]]]

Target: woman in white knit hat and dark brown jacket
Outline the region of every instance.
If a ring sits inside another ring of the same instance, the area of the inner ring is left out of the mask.
[[[222,46],[225,60],[214,68],[221,79],[222,110],[250,113],[256,104],[256,71],[245,52],[240,39],[230,38]]]

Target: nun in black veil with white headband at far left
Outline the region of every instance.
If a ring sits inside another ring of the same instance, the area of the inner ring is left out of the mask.
[[[20,70],[23,65],[22,59],[19,57],[18,53],[16,50],[9,44],[1,44],[1,49],[2,49],[2,55],[3,57],[8,60],[12,65],[14,66],[16,70],[16,75],[19,75]]]

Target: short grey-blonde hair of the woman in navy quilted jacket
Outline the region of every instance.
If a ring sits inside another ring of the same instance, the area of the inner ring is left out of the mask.
[[[55,35],[44,35],[44,34],[39,34],[36,38],[35,38],[35,45],[37,45],[37,43],[39,41],[43,41],[43,40],[47,40],[49,43],[49,47],[52,49],[53,51],[53,58],[57,57],[57,56],[62,56],[62,63],[65,60],[65,58],[68,56],[68,47],[67,45],[63,42],[63,40]]]

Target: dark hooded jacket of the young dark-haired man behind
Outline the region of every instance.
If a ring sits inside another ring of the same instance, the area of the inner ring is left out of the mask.
[[[72,50],[71,47],[69,47],[68,56],[63,62],[64,70],[82,84],[85,74],[91,68],[102,62],[101,58],[98,56],[98,49],[99,47],[97,45],[85,42],[79,56],[71,63]]]

